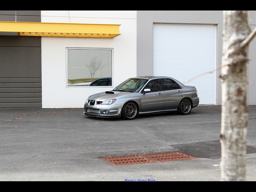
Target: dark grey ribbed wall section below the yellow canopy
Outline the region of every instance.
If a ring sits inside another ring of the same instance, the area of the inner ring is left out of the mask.
[[[42,108],[41,37],[0,36],[0,108]]]

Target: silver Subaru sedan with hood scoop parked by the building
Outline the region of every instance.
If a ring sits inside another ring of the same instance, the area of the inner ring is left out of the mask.
[[[84,115],[94,117],[121,117],[132,120],[140,114],[178,111],[187,115],[198,106],[194,86],[164,76],[129,78],[111,91],[88,97]]]

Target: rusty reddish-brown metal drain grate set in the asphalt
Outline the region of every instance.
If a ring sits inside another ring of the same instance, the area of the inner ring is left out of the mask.
[[[186,155],[180,152],[172,152],[172,153],[159,153],[159,154],[136,155],[136,156],[109,157],[109,158],[101,158],[101,159],[115,165],[133,165],[133,164],[142,164],[142,163],[189,160],[189,159],[197,159],[197,157]]]

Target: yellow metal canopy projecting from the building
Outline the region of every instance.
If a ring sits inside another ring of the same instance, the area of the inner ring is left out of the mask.
[[[0,32],[18,32],[18,36],[115,38],[120,35],[119,26],[119,24],[0,21]]]

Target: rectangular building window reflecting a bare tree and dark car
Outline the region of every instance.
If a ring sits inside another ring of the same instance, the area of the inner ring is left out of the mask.
[[[67,48],[66,63],[68,87],[112,86],[112,49]]]

